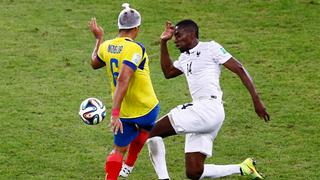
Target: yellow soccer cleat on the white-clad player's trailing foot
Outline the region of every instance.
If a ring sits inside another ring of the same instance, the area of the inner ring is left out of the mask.
[[[252,158],[247,158],[240,164],[241,174],[249,176],[251,179],[263,179],[262,175],[257,171],[256,161]]]

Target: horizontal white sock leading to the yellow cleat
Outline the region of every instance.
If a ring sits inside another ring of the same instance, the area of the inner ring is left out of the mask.
[[[229,176],[232,174],[240,174],[240,166],[237,164],[232,165],[215,165],[215,164],[205,164],[201,178],[219,178],[224,176]]]

